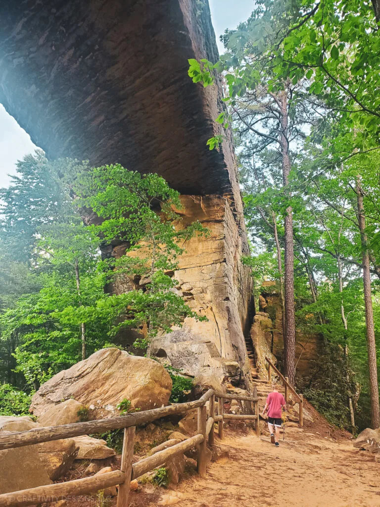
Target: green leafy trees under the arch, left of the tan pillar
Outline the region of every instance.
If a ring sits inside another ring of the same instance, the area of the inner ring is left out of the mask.
[[[121,165],[52,164],[37,152],[19,163],[13,180],[1,194],[0,244],[12,234],[25,246],[23,263],[6,249],[0,259],[3,382],[36,390],[81,360],[84,348],[88,356],[118,346],[125,328],[147,329],[136,341],[146,348],[186,317],[206,320],[173,291],[178,282],[171,275],[186,241],[207,231],[198,222],[181,226],[179,194],[162,177]],[[89,207],[101,225],[84,225],[80,211]],[[125,245],[125,255],[102,259],[100,246],[114,240]],[[105,293],[118,277],[140,286]]]

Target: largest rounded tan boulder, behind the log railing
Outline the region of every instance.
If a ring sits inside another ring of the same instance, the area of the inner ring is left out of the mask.
[[[41,417],[72,398],[89,408],[90,419],[112,417],[120,413],[116,407],[124,399],[141,410],[167,405],[171,388],[170,375],[157,361],[106,348],[43,384],[29,410]]]

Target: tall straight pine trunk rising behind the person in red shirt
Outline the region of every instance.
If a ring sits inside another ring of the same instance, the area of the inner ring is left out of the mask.
[[[284,186],[288,185],[290,173],[289,141],[288,141],[288,97],[286,91],[279,94],[281,105],[280,146],[282,156],[282,177]],[[285,216],[285,322],[284,366],[285,376],[294,385],[295,377],[295,315],[294,315],[294,245],[293,245],[293,213],[291,206],[286,209]]]

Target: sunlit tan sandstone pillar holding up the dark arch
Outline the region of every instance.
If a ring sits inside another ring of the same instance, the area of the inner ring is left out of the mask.
[[[250,326],[251,280],[242,265],[239,236],[229,201],[219,196],[182,196],[182,227],[199,220],[209,236],[184,244],[174,277],[177,291],[207,322],[186,319],[183,327],[153,340],[151,352],[166,357],[204,386],[218,388],[225,377],[249,371],[244,332]]]

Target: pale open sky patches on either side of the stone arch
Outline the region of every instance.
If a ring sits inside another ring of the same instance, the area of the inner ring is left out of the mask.
[[[209,3],[219,53],[223,53],[219,35],[226,28],[236,28],[248,19],[254,0],[209,0]],[[0,187],[9,185],[9,174],[16,173],[17,160],[34,152],[35,148],[30,136],[0,104]]]

